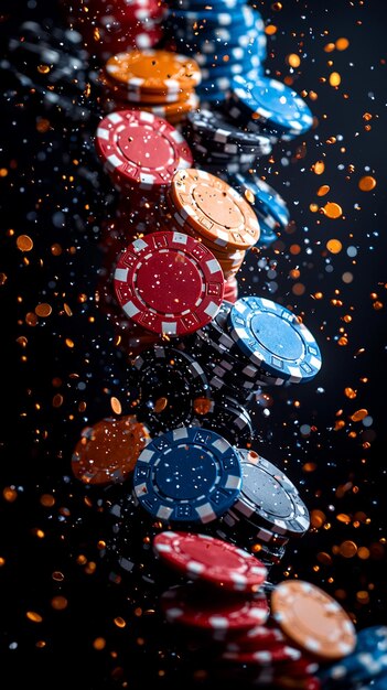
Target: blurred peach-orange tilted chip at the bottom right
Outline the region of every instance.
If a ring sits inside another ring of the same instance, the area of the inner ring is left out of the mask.
[[[350,616],[314,584],[281,582],[271,594],[271,610],[282,632],[320,659],[341,659],[355,648],[356,630]]]

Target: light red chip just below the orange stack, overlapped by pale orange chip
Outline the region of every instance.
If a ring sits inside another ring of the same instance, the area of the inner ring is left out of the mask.
[[[97,128],[96,149],[114,181],[150,191],[166,187],[176,170],[193,162],[182,134],[142,110],[107,115]]]

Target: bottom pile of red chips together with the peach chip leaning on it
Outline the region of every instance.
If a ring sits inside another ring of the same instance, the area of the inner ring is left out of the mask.
[[[191,581],[166,590],[160,605],[184,648],[211,659],[212,681],[320,690],[322,664],[351,662],[354,625],[320,587],[288,580],[270,592],[260,561],[208,535],[164,531],[153,550]]]

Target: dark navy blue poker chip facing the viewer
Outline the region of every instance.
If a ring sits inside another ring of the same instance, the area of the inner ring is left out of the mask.
[[[141,506],[171,522],[211,522],[236,502],[241,487],[237,450],[214,431],[182,427],[148,444],[136,464]]]

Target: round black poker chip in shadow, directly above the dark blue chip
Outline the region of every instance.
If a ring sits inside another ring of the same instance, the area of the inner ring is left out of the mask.
[[[189,424],[196,400],[209,398],[202,367],[176,348],[154,345],[136,357],[133,368],[140,391],[137,413],[157,432]]]

